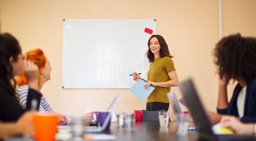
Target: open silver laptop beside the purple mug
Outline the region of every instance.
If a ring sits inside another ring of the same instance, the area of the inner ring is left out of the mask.
[[[102,126],[87,126],[85,128],[85,132],[88,133],[99,133],[102,132],[106,129],[107,124],[109,123],[109,121],[111,120],[111,111],[114,110],[115,108],[115,103],[118,101],[118,98],[120,97],[120,93],[118,93],[117,95],[115,95],[114,99],[112,100],[112,102],[110,103],[109,107],[107,108],[107,111],[109,111],[109,114],[107,115],[106,120],[104,121]]]

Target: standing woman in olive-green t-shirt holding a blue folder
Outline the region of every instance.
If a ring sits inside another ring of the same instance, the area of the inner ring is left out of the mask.
[[[168,45],[160,35],[152,35],[147,43],[148,51],[146,53],[149,59],[149,71],[147,72],[147,83],[145,89],[150,85],[156,88],[147,97],[147,111],[168,111],[170,102],[167,93],[171,87],[178,86],[178,76],[175,71],[173,56],[170,55]],[[134,71],[134,81],[139,81],[141,77]]]

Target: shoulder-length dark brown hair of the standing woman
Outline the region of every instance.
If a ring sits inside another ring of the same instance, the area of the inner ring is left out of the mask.
[[[164,56],[168,56],[170,58],[172,58],[173,56],[170,55],[170,52],[169,52],[169,49],[168,49],[168,45],[166,44],[166,41],[164,40],[164,38],[161,36],[161,35],[152,35],[150,38],[149,38],[149,41],[147,42],[147,46],[149,47],[150,45],[150,40],[153,38],[153,37],[156,37],[159,44],[161,45],[161,48],[160,48],[160,52],[159,52],[159,56],[160,57],[164,57]],[[151,49],[149,47],[149,49],[147,50],[147,58],[149,59],[149,63],[151,62],[154,62],[154,53],[151,52]]]

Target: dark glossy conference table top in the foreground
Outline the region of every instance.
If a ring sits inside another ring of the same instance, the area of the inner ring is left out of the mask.
[[[110,130],[102,133],[93,134],[111,134],[117,141],[198,141],[196,131],[189,132],[186,136],[176,134],[176,124],[170,121],[168,127],[160,127],[159,121],[134,122],[134,128],[126,130],[124,127],[118,127],[116,122],[111,123]],[[90,133],[91,134],[91,133]],[[8,138],[5,141],[33,141],[28,138]],[[87,141],[87,140],[86,140]]]

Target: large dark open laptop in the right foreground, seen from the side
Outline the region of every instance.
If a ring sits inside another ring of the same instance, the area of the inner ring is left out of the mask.
[[[187,108],[195,122],[198,130],[199,140],[206,141],[256,141],[255,135],[215,135],[211,130],[211,123],[205,109],[200,101],[198,93],[192,79],[188,79],[179,84]]]

